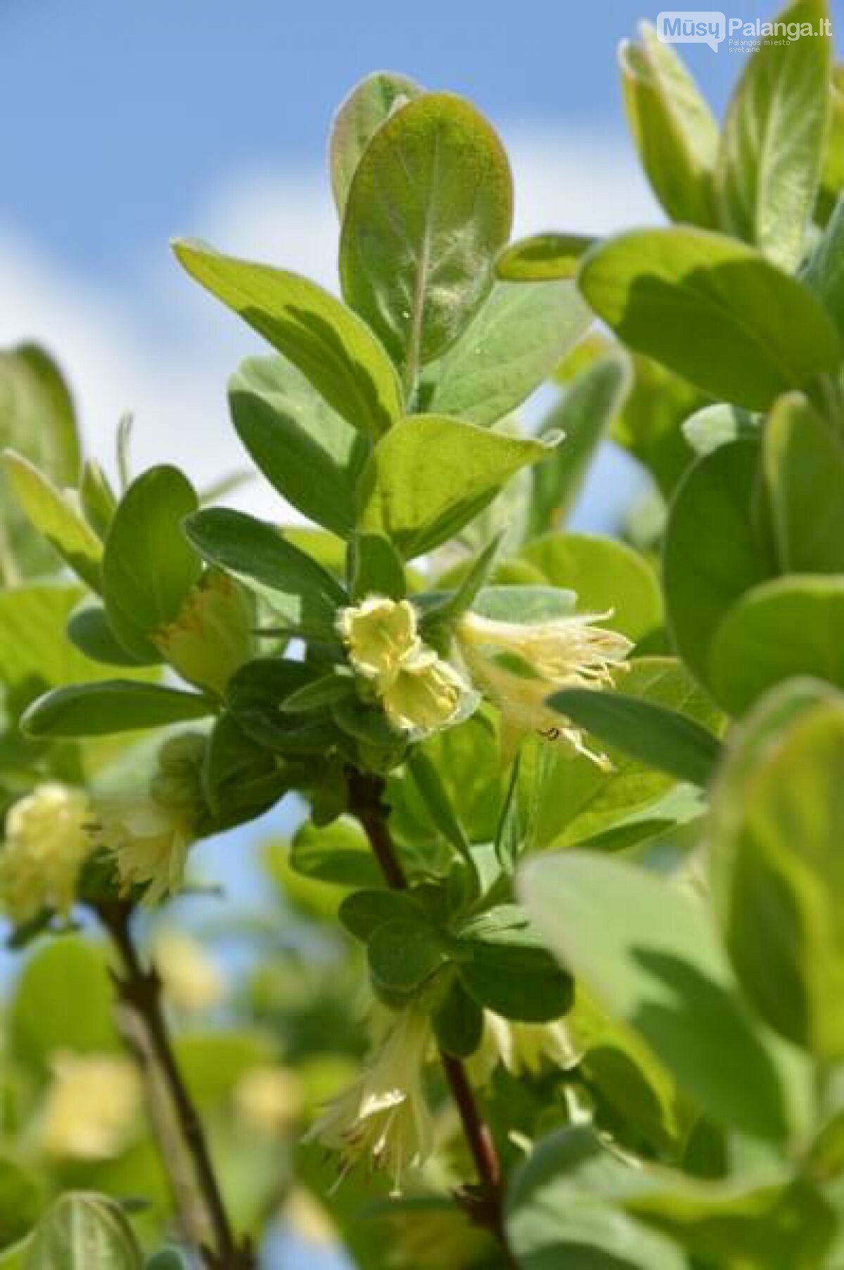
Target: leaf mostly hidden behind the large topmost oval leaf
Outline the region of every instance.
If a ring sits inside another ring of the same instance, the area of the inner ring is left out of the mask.
[[[363,151],[393,110],[421,91],[406,75],[376,71],[355,84],[343,102],[334,117],[329,142],[331,189],[340,218]]]

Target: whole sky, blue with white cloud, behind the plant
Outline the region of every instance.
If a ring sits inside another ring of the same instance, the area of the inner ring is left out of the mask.
[[[640,0],[0,0],[0,347],[53,348],[100,456],[132,410],[138,465],[178,462],[211,481],[242,461],[225,386],[260,344],[180,274],[168,240],[207,237],[334,284],[326,133],[373,69],[490,116],[514,164],[519,232],[659,220],[616,61],[618,41],[656,11]],[[721,105],[737,57],[688,52]],[[604,460],[584,523],[612,519],[627,488]],[[279,514],[267,488],[247,498]]]

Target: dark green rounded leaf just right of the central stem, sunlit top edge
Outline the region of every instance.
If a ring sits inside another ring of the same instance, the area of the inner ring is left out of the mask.
[[[560,970],[515,904],[462,922],[449,955],[468,993],[496,1015],[548,1022],[571,1008],[571,977]]]

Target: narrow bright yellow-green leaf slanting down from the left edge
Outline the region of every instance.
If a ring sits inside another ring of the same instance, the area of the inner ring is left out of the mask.
[[[3,464],[14,494],[33,527],[47,538],[74,573],[94,591],[100,588],[103,545],[88,522],[28,458],[6,450]]]

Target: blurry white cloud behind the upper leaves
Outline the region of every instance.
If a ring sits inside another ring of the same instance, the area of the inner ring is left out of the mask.
[[[506,135],[517,178],[517,231],[607,232],[655,220],[623,138],[555,130]],[[190,234],[222,250],[283,263],[334,287],[336,218],[327,179],[311,169],[235,173]],[[170,461],[199,485],[244,466],[225,384],[258,337],[202,293],[165,248],[131,284],[74,272],[48,245],[0,225],[0,347],[37,339],[74,386],[90,452],[110,456],[119,415],[136,417],[138,467]],[[279,516],[261,481],[232,502]]]

